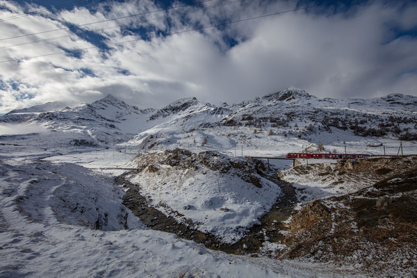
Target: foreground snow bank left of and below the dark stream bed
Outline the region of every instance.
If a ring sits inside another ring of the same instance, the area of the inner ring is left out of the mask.
[[[3,160],[0,277],[334,277],[324,265],[233,256],[145,229],[120,188],[72,163]],[[126,224],[129,229],[124,229]],[[101,229],[93,229],[99,223]],[[311,272],[313,271],[313,272]],[[337,275],[336,275],[337,276]]]

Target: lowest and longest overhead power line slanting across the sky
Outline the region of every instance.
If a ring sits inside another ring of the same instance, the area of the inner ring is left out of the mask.
[[[238,20],[234,20],[234,21],[231,21],[231,22],[225,22],[225,23],[222,23],[222,24],[211,24],[211,25],[202,26],[202,27],[198,27],[198,28],[191,28],[191,29],[184,30],[184,31],[177,31],[177,32],[167,33],[167,34],[163,35],[163,37],[167,37],[167,36],[170,36],[170,35],[178,35],[178,34],[181,34],[181,33],[188,33],[188,32],[192,32],[192,31],[200,31],[200,30],[204,30],[206,28],[227,26],[227,25],[230,25],[230,24],[235,24],[235,23],[239,23],[239,22],[247,22],[247,21],[254,20],[254,19],[262,19],[262,18],[265,18],[265,17],[274,16],[274,15],[282,15],[282,14],[285,14],[285,13],[292,13],[292,12],[295,12],[297,10],[306,10],[306,9],[309,9],[309,8],[316,8],[316,7],[319,7],[319,6],[324,6],[324,5],[343,2],[343,1],[345,1],[345,0],[329,1],[329,2],[325,2],[325,3],[312,5],[312,6],[305,6],[305,7],[301,7],[301,8],[295,8],[295,9],[292,9],[292,10],[285,10],[285,11],[282,11],[282,12],[269,13],[269,14],[266,14],[266,15],[259,15],[259,16],[256,16],[256,17],[249,17],[249,18],[245,18],[245,19],[238,19]],[[161,35],[153,35],[149,38],[156,38],[156,37],[160,37],[160,36]],[[99,46],[93,46],[93,47],[84,47],[84,48],[80,48],[80,49],[72,49],[72,50],[67,50],[67,51],[58,51],[58,52],[55,52],[55,53],[42,54],[42,55],[31,56],[31,57],[26,57],[26,58],[16,58],[16,59],[10,59],[10,60],[3,60],[3,61],[0,61],[0,63],[8,63],[8,62],[13,62],[13,61],[17,61],[17,60],[31,60],[33,58],[54,56],[54,55],[58,55],[58,54],[75,53],[75,52],[85,51],[85,50],[89,50],[89,49],[96,49],[96,48],[99,49],[100,47],[108,47],[108,46],[111,46],[111,45],[119,45],[119,44],[126,44],[126,43],[130,43],[130,42],[137,42],[139,40],[142,40],[142,39],[137,38],[135,40],[126,40],[126,41],[123,41],[123,42],[111,42],[111,43],[108,43],[108,44],[101,44]]]

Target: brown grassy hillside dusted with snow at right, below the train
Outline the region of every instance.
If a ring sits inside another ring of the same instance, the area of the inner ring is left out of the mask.
[[[332,173],[312,167],[315,177],[343,177],[346,183],[339,184],[346,188],[355,182],[363,188],[300,206],[291,215],[286,247],[277,257],[349,263],[370,276],[383,272],[385,277],[408,277],[415,271],[417,156],[363,159]],[[311,174],[296,168],[299,178]]]

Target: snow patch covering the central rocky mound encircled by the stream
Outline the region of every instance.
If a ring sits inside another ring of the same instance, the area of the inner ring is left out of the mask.
[[[204,166],[175,170],[162,165],[157,173],[131,174],[128,179],[139,184],[141,193],[160,211],[181,213],[197,223],[195,229],[208,231],[225,243],[235,243],[242,238],[242,231],[258,224],[281,193],[267,179],[260,177],[262,188],[257,188],[233,174]]]

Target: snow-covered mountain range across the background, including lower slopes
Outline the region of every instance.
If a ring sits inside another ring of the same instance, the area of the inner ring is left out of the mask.
[[[393,94],[375,99],[318,99],[294,87],[221,106],[187,98],[158,110],[140,110],[111,95],[75,108],[61,106],[64,104],[49,103],[11,111],[0,117],[0,122],[35,124],[65,133],[65,140],[94,145],[114,145],[132,138],[128,145],[142,149],[150,145],[174,149],[208,140],[208,146],[220,152],[231,152],[237,145],[254,150],[268,144],[277,149],[287,138],[297,138],[291,142],[297,142],[297,150],[300,145],[334,145],[360,138],[372,143],[382,138],[407,140],[416,137],[417,129],[417,97]],[[259,138],[263,133],[275,136]],[[153,140],[149,136],[154,136]]]

